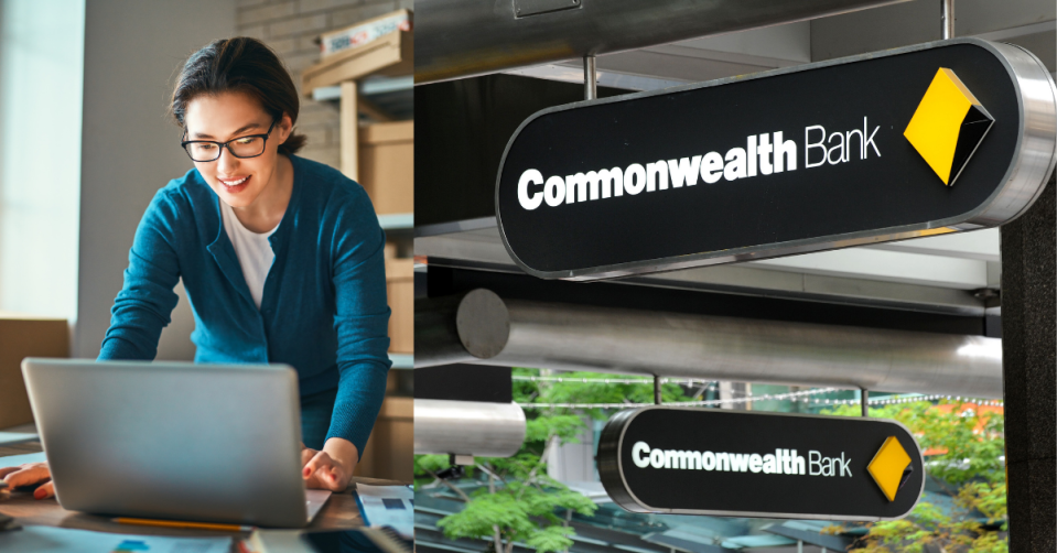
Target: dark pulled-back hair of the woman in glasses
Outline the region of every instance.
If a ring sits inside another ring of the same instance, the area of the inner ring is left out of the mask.
[[[176,78],[170,107],[176,123],[186,129],[187,104],[199,95],[242,93],[260,102],[271,117],[283,113],[298,122],[301,102],[279,56],[257,39],[223,39],[191,54]],[[291,131],[279,145],[279,153],[296,153],[304,147],[304,134]]]

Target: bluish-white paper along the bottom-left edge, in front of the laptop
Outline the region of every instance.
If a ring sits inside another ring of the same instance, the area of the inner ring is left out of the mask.
[[[100,553],[228,553],[230,538],[163,538],[127,535],[54,527],[25,527],[0,533],[0,551],[52,553],[98,551]]]

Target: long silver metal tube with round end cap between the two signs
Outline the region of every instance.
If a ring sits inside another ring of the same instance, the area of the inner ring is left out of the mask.
[[[995,338],[466,297],[485,293],[459,311],[489,323],[459,338],[487,354],[459,362],[1002,397]]]

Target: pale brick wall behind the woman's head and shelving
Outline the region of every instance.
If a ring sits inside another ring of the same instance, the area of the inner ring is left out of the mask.
[[[321,34],[356,24],[401,8],[413,9],[413,0],[238,0],[236,33],[268,43],[301,89],[301,72],[320,61],[315,39]],[[309,138],[299,155],[341,169],[338,107],[301,97],[298,132]]]

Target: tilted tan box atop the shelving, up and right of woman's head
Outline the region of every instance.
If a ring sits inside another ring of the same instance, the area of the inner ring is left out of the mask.
[[[414,74],[414,39],[408,31],[393,31],[381,37],[327,56],[301,72],[301,94],[356,80],[367,75],[405,76]]]

